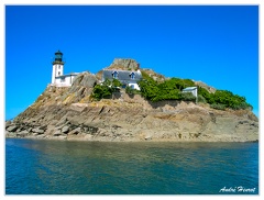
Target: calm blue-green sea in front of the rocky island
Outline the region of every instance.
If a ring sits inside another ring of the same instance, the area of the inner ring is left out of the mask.
[[[257,195],[258,143],[6,140],[7,195]]]

